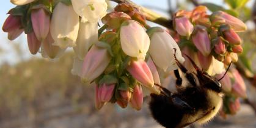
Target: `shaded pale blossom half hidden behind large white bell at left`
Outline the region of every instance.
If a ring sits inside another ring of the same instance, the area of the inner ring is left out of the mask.
[[[49,32],[45,40],[42,41],[41,52],[43,57],[54,59],[64,54],[65,49],[60,49],[59,46],[54,46],[53,43],[53,37]]]

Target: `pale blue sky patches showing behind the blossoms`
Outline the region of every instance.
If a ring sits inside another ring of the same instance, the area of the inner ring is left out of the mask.
[[[167,10],[167,0],[133,0],[139,5],[145,5],[146,7],[156,7],[159,9]],[[161,2],[160,2],[161,1]],[[182,2],[185,0],[179,0],[179,2]],[[211,2],[211,0],[201,0],[201,1],[207,1]],[[248,3],[248,5],[252,5],[252,0],[251,4]],[[222,0],[214,0],[215,4],[222,4]],[[1,1],[1,8],[0,8],[0,26],[4,23],[5,19],[7,18],[8,15],[6,13],[12,9],[12,7],[15,7],[15,5],[11,4],[10,1],[7,0],[2,0]],[[189,7],[188,7],[189,8]],[[189,9],[188,9],[189,10]],[[159,12],[161,13],[161,12]],[[13,51],[12,44],[21,44],[21,49],[24,52],[24,58],[29,59],[33,57],[33,55],[29,54],[29,49],[27,48],[27,43],[26,43],[26,36],[23,34],[19,38],[17,38],[14,41],[9,41],[7,39],[7,34],[5,32],[2,32],[0,30],[0,49],[4,49],[4,53],[0,52],[0,65],[3,62],[9,62],[9,63],[15,63],[20,60],[19,57],[16,57]],[[40,55],[36,55],[40,56]]]

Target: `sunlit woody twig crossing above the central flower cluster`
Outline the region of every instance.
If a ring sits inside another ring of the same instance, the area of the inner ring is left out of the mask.
[[[153,23],[157,23],[164,27],[172,29],[172,20],[170,20],[169,18],[166,18],[162,15],[159,15],[158,13],[153,12],[150,9],[142,7],[141,5],[137,5],[133,1],[130,1],[130,0],[110,0],[110,1],[117,2],[118,4],[120,4],[122,2],[131,4],[131,5],[133,5],[133,7],[136,7],[137,9],[139,9],[141,11],[141,13],[143,13],[146,16],[146,19],[148,21],[152,21]]]

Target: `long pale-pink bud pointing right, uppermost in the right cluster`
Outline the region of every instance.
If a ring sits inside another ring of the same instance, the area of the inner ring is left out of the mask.
[[[211,15],[211,21],[213,21],[216,18],[223,18],[225,20],[225,23],[229,24],[230,27],[235,30],[235,32],[243,32],[246,30],[246,24],[243,23],[243,21],[239,20],[238,18],[229,15],[228,13],[217,11],[214,12]]]

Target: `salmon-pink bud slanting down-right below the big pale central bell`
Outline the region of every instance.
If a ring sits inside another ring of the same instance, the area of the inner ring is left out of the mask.
[[[145,87],[153,87],[154,79],[150,68],[148,68],[144,60],[132,60],[126,69],[135,79],[145,85]]]

